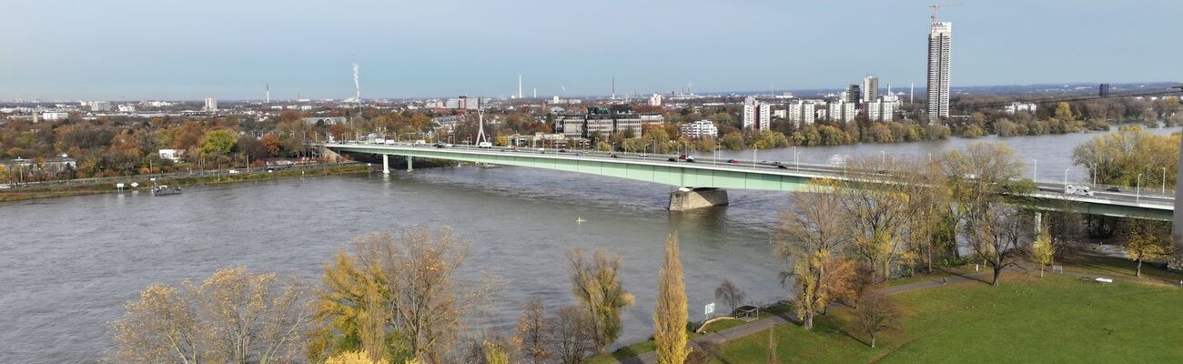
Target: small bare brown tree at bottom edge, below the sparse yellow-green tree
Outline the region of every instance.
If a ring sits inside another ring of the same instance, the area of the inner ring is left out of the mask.
[[[583,307],[563,306],[547,321],[547,352],[562,364],[578,364],[596,349],[595,318]]]

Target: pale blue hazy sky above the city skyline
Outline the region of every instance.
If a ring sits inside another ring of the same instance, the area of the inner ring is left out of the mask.
[[[959,2],[953,86],[1183,80],[1183,1]],[[931,4],[4,0],[0,100],[904,90]]]

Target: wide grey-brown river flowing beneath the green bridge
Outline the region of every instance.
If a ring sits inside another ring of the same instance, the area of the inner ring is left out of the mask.
[[[1172,129],[1153,129],[1166,134]],[[1059,181],[1072,148],[1100,134],[801,148],[802,162],[834,156],[939,154],[975,141],[1003,141],[1039,160],[1040,180]],[[724,157],[751,158],[751,151]],[[759,151],[793,161],[793,149]],[[691,319],[730,279],[748,301],[786,298],[770,230],[788,194],[730,191],[728,207],[665,209],[670,187],[530,168],[424,168],[193,187],[185,194],[91,195],[0,204],[0,363],[93,363],[111,347],[108,323],[150,284],[203,279],[224,267],[293,274],[318,282],[334,252],[362,233],[451,226],[473,246],[461,279],[500,280],[481,325],[511,330],[531,297],[548,310],[574,304],[564,266],[570,247],[623,258],[636,295],[620,343],[651,334],[661,243],[681,236]],[[578,222],[583,220],[583,222]]]

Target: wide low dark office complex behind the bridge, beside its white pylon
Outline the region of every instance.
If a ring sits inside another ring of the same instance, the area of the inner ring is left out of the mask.
[[[587,138],[599,132],[608,136],[631,131],[641,135],[645,124],[661,124],[665,118],[657,112],[633,112],[629,105],[589,106],[587,113],[560,113],[555,130],[569,138]]]

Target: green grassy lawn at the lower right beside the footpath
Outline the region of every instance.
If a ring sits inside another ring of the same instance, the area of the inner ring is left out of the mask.
[[[814,331],[777,327],[781,363],[1179,363],[1183,290],[1095,284],[1067,275],[1007,274],[894,297],[904,316],[871,349],[848,333],[851,311],[815,319]],[[768,337],[725,345],[716,363],[763,363]]]

